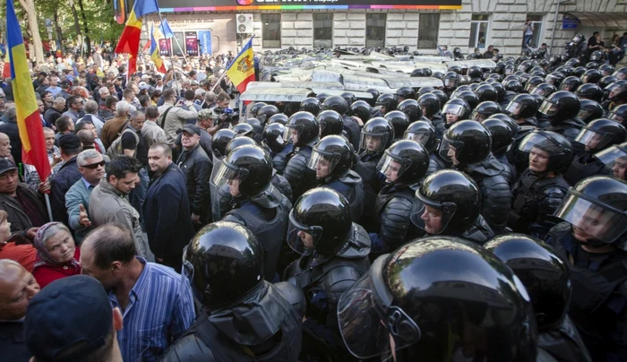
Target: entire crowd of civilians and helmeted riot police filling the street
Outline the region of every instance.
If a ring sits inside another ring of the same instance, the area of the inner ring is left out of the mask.
[[[100,53],[33,69],[46,179],[0,94],[7,360],[627,359],[627,68],[500,57],[240,118],[223,61]]]

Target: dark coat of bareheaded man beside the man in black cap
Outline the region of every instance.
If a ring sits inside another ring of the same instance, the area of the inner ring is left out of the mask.
[[[193,237],[189,210],[185,175],[171,163],[150,181],[143,203],[148,243],[156,257],[183,255],[183,248]]]

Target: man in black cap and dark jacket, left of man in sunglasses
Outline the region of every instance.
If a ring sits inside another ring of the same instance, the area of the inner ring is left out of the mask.
[[[64,134],[59,139],[59,149],[64,163],[56,174],[50,177],[50,206],[52,218],[69,225],[67,209],[65,209],[65,193],[82,177],[76,163],[76,158],[82,151],[81,139],[76,134]]]

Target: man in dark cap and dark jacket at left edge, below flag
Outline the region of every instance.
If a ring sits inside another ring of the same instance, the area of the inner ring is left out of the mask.
[[[12,232],[37,228],[48,221],[38,194],[20,183],[17,167],[8,159],[0,159],[0,210],[9,214]]]

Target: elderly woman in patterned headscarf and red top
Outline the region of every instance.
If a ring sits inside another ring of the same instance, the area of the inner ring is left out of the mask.
[[[57,279],[81,274],[81,250],[64,224],[48,222],[39,228],[33,246],[38,253],[32,275],[41,288]]]

